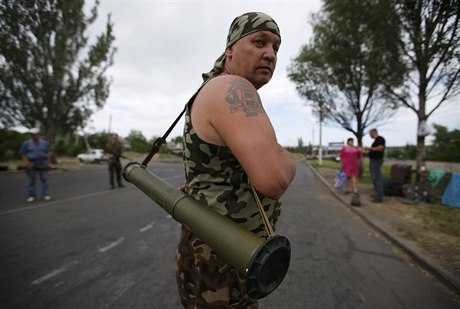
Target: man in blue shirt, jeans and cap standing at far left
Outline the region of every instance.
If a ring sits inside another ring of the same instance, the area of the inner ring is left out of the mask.
[[[34,202],[36,199],[35,179],[37,175],[41,182],[42,198],[49,201],[51,197],[48,193],[48,169],[52,168],[51,147],[46,140],[40,138],[39,129],[30,129],[29,133],[31,139],[22,143],[19,150],[21,159],[26,163],[26,173],[29,179],[27,202]]]

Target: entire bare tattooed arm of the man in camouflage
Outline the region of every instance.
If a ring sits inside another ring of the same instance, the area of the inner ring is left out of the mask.
[[[228,147],[256,190],[279,198],[295,174],[295,163],[278,144],[255,87],[238,76],[219,76],[203,87],[195,103],[192,122],[198,136]]]

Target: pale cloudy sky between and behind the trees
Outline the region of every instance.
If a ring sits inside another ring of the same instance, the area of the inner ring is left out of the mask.
[[[88,1],[92,3],[92,1]],[[287,77],[287,67],[312,38],[311,14],[321,1],[153,1],[101,0],[90,37],[104,29],[108,14],[114,24],[117,52],[108,70],[110,96],[84,129],[91,134],[110,131],[126,137],[141,131],[150,140],[168,129],[184,104],[224,51],[232,20],[260,11],[278,23],[282,44],[270,83],[259,90],[262,103],[283,146],[319,144],[320,124]],[[449,130],[460,129],[460,98],[437,110],[428,121]],[[183,120],[170,138],[182,135]],[[345,142],[350,132],[322,125],[321,143]],[[388,146],[416,144],[416,115],[401,109],[378,127]],[[366,134],[365,146],[372,143]],[[428,143],[430,138],[427,139]]]

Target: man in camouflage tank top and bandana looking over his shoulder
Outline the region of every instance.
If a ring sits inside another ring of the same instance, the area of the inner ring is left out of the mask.
[[[279,198],[295,175],[295,162],[278,144],[257,92],[272,78],[280,44],[270,16],[235,18],[225,52],[187,104],[184,125],[184,190],[262,237],[267,232],[251,185],[274,226]],[[257,308],[239,272],[185,226],[176,261],[185,308]]]

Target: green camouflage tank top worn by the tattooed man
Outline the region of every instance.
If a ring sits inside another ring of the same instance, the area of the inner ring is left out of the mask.
[[[190,106],[185,114],[183,136],[187,193],[247,230],[266,237],[246,172],[228,147],[209,144],[198,137],[190,119]],[[259,198],[275,229],[281,203],[261,195]]]

